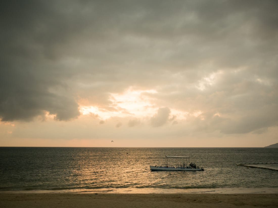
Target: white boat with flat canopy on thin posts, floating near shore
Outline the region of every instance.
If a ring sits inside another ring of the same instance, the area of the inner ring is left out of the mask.
[[[189,157],[184,156],[165,156],[165,164],[160,166],[150,165],[152,171],[203,171],[203,168],[199,168],[195,163],[189,163]],[[175,159],[169,159],[175,158]]]

